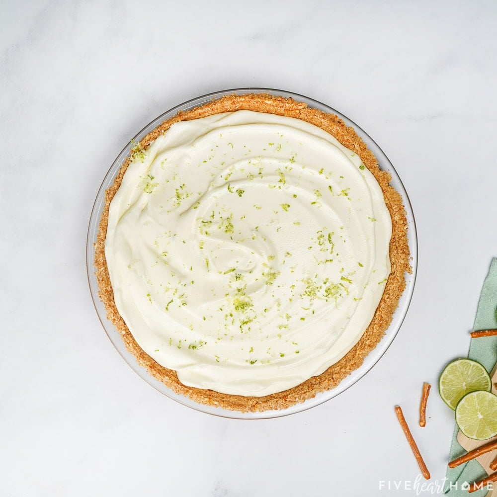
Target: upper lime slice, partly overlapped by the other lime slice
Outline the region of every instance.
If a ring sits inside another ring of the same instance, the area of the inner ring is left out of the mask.
[[[455,409],[457,403],[470,392],[476,390],[490,392],[492,381],[487,370],[479,362],[471,359],[456,359],[442,371],[438,389],[445,404]]]

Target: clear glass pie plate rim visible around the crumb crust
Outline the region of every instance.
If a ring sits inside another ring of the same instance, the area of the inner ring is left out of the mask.
[[[94,261],[94,244],[96,242],[96,238],[98,235],[98,225],[100,222],[100,218],[102,215],[102,210],[104,207],[105,200],[105,190],[109,188],[114,182],[114,178],[117,175],[121,165],[124,163],[126,158],[129,156],[132,142],[139,142],[145,135],[154,130],[157,126],[159,126],[163,121],[168,119],[169,117],[175,115],[179,110],[188,110],[204,103],[207,103],[215,98],[220,98],[224,95],[230,94],[245,94],[245,93],[270,93],[271,95],[283,96],[283,97],[291,97],[294,100],[305,102],[309,107],[320,109],[327,113],[332,113],[340,117],[347,126],[351,126],[354,128],[356,133],[362,138],[365,142],[369,150],[375,155],[380,168],[388,171],[391,176],[391,185],[399,192],[402,196],[404,206],[406,208],[407,213],[407,222],[408,222],[408,243],[409,248],[411,250],[411,266],[412,266],[412,274],[406,274],[407,278],[407,286],[406,289],[400,299],[399,306],[393,316],[392,323],[388,330],[386,331],[384,337],[381,339],[379,344],[376,346],[374,350],[372,350],[369,355],[365,358],[361,367],[353,371],[350,375],[348,375],[345,379],[343,379],[339,385],[327,392],[319,393],[313,399],[309,399],[301,404],[294,405],[290,408],[279,410],[279,411],[264,411],[264,412],[256,412],[256,413],[241,413],[237,411],[229,411],[218,407],[207,406],[204,404],[199,404],[194,402],[193,400],[184,397],[182,395],[176,394],[172,390],[170,390],[166,385],[161,383],[160,381],[153,378],[148,371],[140,366],[134,355],[132,355],[126,348],[124,341],[121,338],[119,331],[116,330],[114,325],[107,320],[106,311],[104,305],[100,301],[98,297],[98,284],[95,275],[95,267],[93,265]],[[124,147],[121,153],[117,156],[116,160],[106,173],[103,182],[98,190],[95,203],[93,205],[93,209],[91,211],[90,222],[88,226],[88,235],[86,241],[86,268],[88,274],[88,282],[91,292],[91,297],[93,299],[93,304],[95,306],[96,312],[102,323],[103,329],[107,333],[111,342],[117,349],[117,351],[121,354],[123,359],[128,363],[128,365],[138,374],[140,375],[146,382],[152,385],[154,388],[159,390],[161,393],[166,395],[172,400],[183,404],[184,406],[190,407],[197,411],[214,414],[218,416],[230,417],[230,418],[240,418],[240,419],[261,419],[261,418],[271,418],[284,416],[288,414],[294,414],[301,411],[305,411],[312,407],[318,406],[333,397],[336,397],[341,392],[352,386],[358,380],[360,380],[381,358],[381,356],[385,353],[387,348],[392,343],[393,339],[397,335],[397,332],[401,328],[401,325],[406,317],[409,305],[411,303],[411,298],[414,291],[414,283],[416,279],[416,269],[417,269],[417,237],[416,237],[416,227],[414,221],[414,214],[411,206],[411,202],[407,195],[407,192],[402,184],[402,181],[395,171],[394,167],[380,149],[380,147],[372,140],[372,138],[367,135],[359,126],[353,123],[346,116],[340,114],[340,112],[332,109],[331,107],[320,103],[316,100],[308,98],[303,95],[299,95],[296,93],[291,93],[289,91],[276,90],[276,89],[268,89],[268,88],[238,88],[238,89],[229,89],[218,91],[215,93],[209,93],[207,95],[203,95],[187,102],[184,102],[176,107],[168,110],[164,114],[160,115],[156,119],[154,119],[150,124],[148,124],[145,128],[143,128],[139,133],[137,133],[133,139]]]

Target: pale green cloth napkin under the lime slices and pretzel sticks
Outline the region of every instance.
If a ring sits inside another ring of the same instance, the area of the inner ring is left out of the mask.
[[[490,271],[483,284],[478,310],[476,312],[474,331],[479,330],[495,330],[497,329],[497,257],[492,259]],[[497,360],[497,336],[487,336],[484,338],[472,338],[469,347],[468,357],[483,364],[489,374],[495,366]],[[450,460],[466,454],[459,442],[457,441],[457,434],[459,428],[455,427],[454,436],[452,438],[452,446],[450,448]],[[461,464],[457,468],[448,469],[444,487],[444,494],[449,497],[459,497],[468,495],[474,497],[484,497],[487,495],[487,489],[481,489],[474,494],[468,494],[466,489],[461,489],[464,482],[472,483],[474,481],[485,478],[487,473],[476,461],[469,461]],[[494,488],[496,485],[494,484]]]

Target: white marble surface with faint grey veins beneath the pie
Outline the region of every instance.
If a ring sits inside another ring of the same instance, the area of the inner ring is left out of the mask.
[[[45,0],[0,14],[0,495],[416,495],[394,487],[419,473],[396,404],[440,481],[453,414],[436,388],[427,426],[415,421],[422,382],[467,354],[497,255],[497,3]],[[140,379],[85,270],[122,147],[168,108],[243,86],[308,95],[365,129],[419,239],[411,309],[373,370],[261,421],[197,413]]]

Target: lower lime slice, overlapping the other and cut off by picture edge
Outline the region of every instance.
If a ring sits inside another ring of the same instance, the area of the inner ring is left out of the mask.
[[[465,395],[456,407],[456,423],[469,438],[487,440],[497,435],[497,396],[480,390]]]

